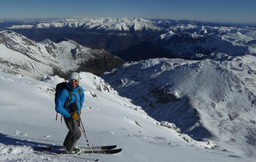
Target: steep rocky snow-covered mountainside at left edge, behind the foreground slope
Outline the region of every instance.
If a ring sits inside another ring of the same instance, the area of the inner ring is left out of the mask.
[[[40,77],[53,74],[58,61],[39,43],[12,31],[0,31],[1,71]]]

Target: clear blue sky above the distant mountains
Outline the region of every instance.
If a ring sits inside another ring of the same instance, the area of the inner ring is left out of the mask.
[[[189,19],[256,25],[256,0],[0,0],[0,18]]]

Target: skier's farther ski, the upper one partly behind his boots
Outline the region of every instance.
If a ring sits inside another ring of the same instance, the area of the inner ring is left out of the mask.
[[[116,148],[116,145],[110,145],[110,146],[82,146],[79,147],[81,150],[111,150]],[[34,147],[34,150],[52,150],[52,149],[63,149],[62,146],[36,146]]]

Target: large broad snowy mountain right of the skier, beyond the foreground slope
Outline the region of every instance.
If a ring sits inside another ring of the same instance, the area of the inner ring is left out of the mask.
[[[255,74],[255,56],[245,55],[221,62],[149,59],[101,77],[157,121],[255,157]]]

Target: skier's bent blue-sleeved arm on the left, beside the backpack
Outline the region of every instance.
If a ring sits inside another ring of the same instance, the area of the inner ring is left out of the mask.
[[[67,93],[66,93],[67,92]],[[70,114],[68,111],[63,107],[65,102],[67,101],[69,94],[66,89],[63,89],[58,93],[58,97],[56,99],[55,111],[60,113],[65,118],[70,118]]]

